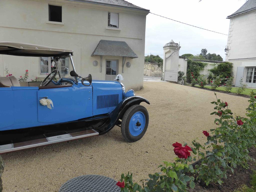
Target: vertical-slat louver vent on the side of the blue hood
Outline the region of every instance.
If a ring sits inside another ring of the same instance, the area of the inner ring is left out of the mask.
[[[111,108],[118,105],[118,94],[97,95],[97,109]]]

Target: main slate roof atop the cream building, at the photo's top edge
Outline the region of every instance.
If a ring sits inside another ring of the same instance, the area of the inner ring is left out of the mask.
[[[68,1],[77,1],[77,2],[84,2],[84,3],[93,3],[93,4],[100,4],[100,5],[108,5],[108,6],[116,6],[128,9],[136,9],[149,12],[150,10],[144,9],[142,7],[133,5],[124,0],[68,0]]]

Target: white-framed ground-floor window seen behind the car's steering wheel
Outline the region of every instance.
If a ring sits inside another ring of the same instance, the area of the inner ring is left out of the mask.
[[[69,57],[61,58],[58,61],[58,69],[59,71],[64,71],[65,68],[69,68]],[[52,57],[40,57],[39,67],[40,67],[40,74],[49,74],[52,69],[56,69],[56,67],[52,67],[51,63],[53,61]]]

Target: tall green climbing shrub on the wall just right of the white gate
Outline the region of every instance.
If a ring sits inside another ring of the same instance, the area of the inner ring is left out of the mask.
[[[191,72],[193,72],[195,79],[197,79],[200,76],[200,71],[207,66],[207,63],[200,62],[200,61],[194,61],[191,59],[188,59],[187,62],[187,82],[191,82]]]

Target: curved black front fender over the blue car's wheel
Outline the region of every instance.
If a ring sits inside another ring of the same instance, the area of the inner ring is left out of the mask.
[[[122,100],[114,109],[114,111],[112,111],[109,114],[110,117],[110,122],[108,124],[108,127],[106,127],[104,130],[102,130],[102,132],[99,133],[99,135],[105,134],[107,132],[109,132],[118,122],[119,119],[123,118],[123,115],[125,113],[125,111],[131,107],[132,105],[139,105],[141,102],[145,102],[147,104],[150,105],[149,101],[144,99],[143,97],[140,96],[132,96],[132,97],[128,97],[124,100]]]

